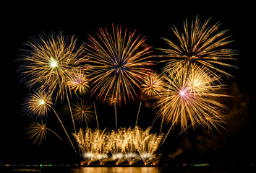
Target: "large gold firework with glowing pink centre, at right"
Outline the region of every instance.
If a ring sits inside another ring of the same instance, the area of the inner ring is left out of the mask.
[[[180,123],[182,130],[188,122],[194,128],[196,124],[216,127],[223,122],[220,110],[226,108],[214,99],[226,96],[216,93],[222,85],[213,85],[216,79],[211,79],[201,68],[195,67],[192,71],[176,71],[165,76],[165,92],[156,96],[155,107],[160,107],[158,115],[172,126]]]

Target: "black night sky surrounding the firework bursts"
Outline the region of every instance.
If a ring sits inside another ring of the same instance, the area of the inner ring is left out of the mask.
[[[234,76],[226,77],[226,93],[234,97],[222,100],[229,106],[225,129],[208,133],[201,128],[179,135],[176,128],[168,136],[161,148],[164,163],[212,162],[224,164],[256,163],[255,141],[255,12],[254,4],[239,4],[239,1],[224,3],[211,1],[200,4],[193,1],[172,4],[166,1],[148,1],[148,4],[133,4],[132,1],[117,4],[74,3],[61,4],[4,4],[1,11],[1,113],[0,113],[0,160],[1,163],[22,162],[64,162],[74,161],[75,155],[67,140],[59,141],[48,133],[42,145],[33,145],[27,140],[25,127],[32,122],[22,115],[22,102],[28,93],[25,84],[20,83],[17,72],[20,63],[20,48],[25,48],[28,37],[42,32],[63,32],[75,35],[78,43],[88,42],[88,34],[95,36],[99,27],[111,30],[111,24],[136,30],[137,35],[147,38],[146,43],[153,48],[167,48],[161,37],[171,39],[171,27],[182,26],[184,19],[189,22],[198,14],[201,21],[211,17],[211,23],[220,21],[220,30],[228,29],[232,35],[230,47],[239,50],[237,61],[231,62],[238,68],[228,71]],[[156,3],[156,4],[155,4]],[[155,50],[155,55],[160,52]],[[118,107],[118,123],[122,127],[135,125],[140,99]],[[65,116],[65,102],[56,107]],[[100,128],[114,129],[114,107],[96,102]],[[66,111],[67,114],[67,111]],[[67,115],[68,116],[68,115]],[[142,103],[138,125],[147,128],[154,120],[155,112]],[[64,136],[54,115],[48,115],[47,126]],[[55,126],[51,126],[55,125]],[[90,127],[96,128],[95,120]],[[160,122],[153,130],[158,132]],[[165,132],[168,126],[164,125]]]

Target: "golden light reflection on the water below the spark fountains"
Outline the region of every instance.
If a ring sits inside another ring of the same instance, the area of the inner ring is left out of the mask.
[[[159,167],[82,167],[74,173],[160,173]]]

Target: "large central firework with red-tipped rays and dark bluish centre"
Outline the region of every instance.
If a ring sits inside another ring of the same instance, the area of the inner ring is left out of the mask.
[[[93,63],[94,72],[92,94],[99,92],[97,98],[105,101],[108,94],[124,102],[137,96],[134,86],[140,89],[142,76],[151,71],[148,66],[150,47],[142,48],[145,38],[135,37],[135,32],[127,30],[124,33],[121,27],[114,30],[113,34],[100,29],[99,39],[90,36],[88,45],[88,57]],[[121,102],[120,102],[121,103]]]

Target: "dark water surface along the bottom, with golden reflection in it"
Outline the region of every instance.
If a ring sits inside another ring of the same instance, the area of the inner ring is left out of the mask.
[[[255,167],[0,167],[1,173],[251,173]]]

